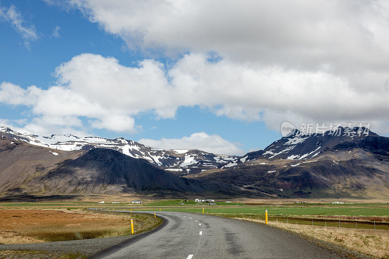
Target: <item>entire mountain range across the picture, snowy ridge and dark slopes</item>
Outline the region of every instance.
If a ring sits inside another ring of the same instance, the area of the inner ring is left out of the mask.
[[[39,137],[2,127],[0,192],[389,199],[389,138],[365,131],[296,130],[264,150],[230,156],[155,149],[123,138]]]

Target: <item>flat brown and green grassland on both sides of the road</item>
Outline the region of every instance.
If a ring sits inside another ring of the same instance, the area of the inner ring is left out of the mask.
[[[112,208],[116,210],[132,208],[133,212],[161,209],[194,213],[202,213],[204,208],[206,214],[256,223],[264,223],[267,210],[269,224],[275,227],[308,239],[319,239],[367,255],[388,258],[385,249],[389,246],[389,204],[386,202],[295,204],[261,201],[216,202],[216,205],[206,205],[191,200],[171,199],[146,200],[143,204],[98,204],[99,199],[0,202],[0,243],[11,243],[15,240],[45,242],[125,235],[129,233],[129,217],[135,220],[136,232],[153,228],[161,223],[159,218],[150,215],[117,214],[113,210],[109,212]],[[106,208],[107,211],[86,210],[88,207]],[[42,211],[45,212],[42,214]]]

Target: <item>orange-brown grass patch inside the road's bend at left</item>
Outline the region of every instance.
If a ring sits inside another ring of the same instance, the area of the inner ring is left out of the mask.
[[[72,213],[69,213],[72,212]],[[90,239],[152,229],[162,220],[148,214],[53,209],[0,209],[0,243],[32,243]]]

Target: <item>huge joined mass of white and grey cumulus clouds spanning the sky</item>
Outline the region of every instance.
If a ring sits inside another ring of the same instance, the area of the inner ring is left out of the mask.
[[[50,0],[51,4],[55,1]],[[69,0],[130,49],[135,67],[81,54],[55,69],[47,90],[2,83],[0,102],[37,118],[88,118],[92,128],[136,131],[134,117],[174,118],[199,105],[217,116],[265,121],[389,121],[388,2]],[[4,12],[3,12],[4,13]],[[212,53],[212,54],[210,54]],[[70,105],[71,104],[71,105]]]

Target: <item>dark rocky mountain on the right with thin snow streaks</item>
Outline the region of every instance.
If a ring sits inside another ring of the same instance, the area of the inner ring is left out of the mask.
[[[365,130],[365,129],[363,129]],[[190,178],[228,182],[279,197],[389,198],[389,138],[339,128],[324,135],[296,131],[226,169]],[[339,135],[339,136],[337,136]]]

